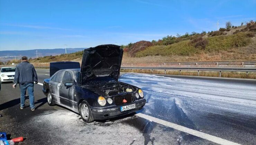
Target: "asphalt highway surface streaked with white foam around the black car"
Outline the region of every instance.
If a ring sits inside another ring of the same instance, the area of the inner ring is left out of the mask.
[[[37,69],[39,83],[49,70]],[[127,73],[121,81],[144,90],[136,115],[83,123],[61,106],[48,106],[40,84],[35,106],[20,110],[19,87],[2,84],[0,131],[19,144],[255,144],[256,81]]]

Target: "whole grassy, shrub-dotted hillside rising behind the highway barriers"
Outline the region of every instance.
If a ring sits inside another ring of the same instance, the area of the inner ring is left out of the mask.
[[[139,41],[124,48],[123,63],[174,61],[241,61],[256,60],[256,22],[245,26],[220,28],[206,33],[192,32],[166,36],[158,41]],[[36,66],[47,66],[52,61],[79,61],[82,51],[29,60]],[[12,60],[9,63],[18,63]]]

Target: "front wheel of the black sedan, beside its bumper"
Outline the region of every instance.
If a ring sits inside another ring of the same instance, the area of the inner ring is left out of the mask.
[[[82,120],[85,123],[90,123],[94,121],[91,109],[89,104],[86,101],[82,101],[79,105],[79,113],[81,115]]]

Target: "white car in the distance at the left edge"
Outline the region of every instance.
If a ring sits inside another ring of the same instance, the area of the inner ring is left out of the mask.
[[[1,82],[13,81],[15,75],[15,67],[2,67],[0,71]]]

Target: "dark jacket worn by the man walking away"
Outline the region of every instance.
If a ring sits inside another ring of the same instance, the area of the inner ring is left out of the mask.
[[[16,66],[13,83],[33,83],[37,81],[35,67],[27,61],[22,61]]]

